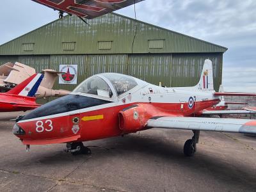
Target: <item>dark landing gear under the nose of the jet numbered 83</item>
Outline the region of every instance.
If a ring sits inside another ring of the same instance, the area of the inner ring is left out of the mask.
[[[67,143],[66,152],[70,152],[74,156],[78,154],[86,154],[86,155],[92,154],[90,148],[84,147],[82,142]]]

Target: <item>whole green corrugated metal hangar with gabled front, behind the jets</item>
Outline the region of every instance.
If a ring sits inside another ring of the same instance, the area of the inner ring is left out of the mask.
[[[80,83],[101,72],[118,72],[165,86],[194,86],[204,60],[212,60],[214,88],[222,79],[227,48],[138,20],[109,13],[88,26],[65,16],[0,46],[0,64],[19,61],[37,72],[78,65]],[[76,85],[58,84],[72,90]]]

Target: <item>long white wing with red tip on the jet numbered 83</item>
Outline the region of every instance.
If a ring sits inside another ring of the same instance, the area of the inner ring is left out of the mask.
[[[256,120],[163,116],[148,120],[146,127],[256,134]]]

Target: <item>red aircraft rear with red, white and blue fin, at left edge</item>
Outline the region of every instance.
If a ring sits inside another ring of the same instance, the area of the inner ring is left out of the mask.
[[[40,106],[36,104],[35,93],[44,75],[33,74],[6,93],[0,93],[0,112],[26,111]]]

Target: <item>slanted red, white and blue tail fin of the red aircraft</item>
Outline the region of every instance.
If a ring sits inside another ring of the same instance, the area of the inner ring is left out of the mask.
[[[15,86],[15,88],[12,88],[12,90],[6,93],[34,97],[43,78],[43,74],[33,74],[33,76],[28,77],[28,79],[18,84]]]

